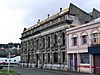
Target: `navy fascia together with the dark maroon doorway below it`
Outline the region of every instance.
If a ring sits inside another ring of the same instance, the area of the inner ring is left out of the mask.
[[[93,56],[93,72],[100,74],[100,46],[89,47],[88,53]]]

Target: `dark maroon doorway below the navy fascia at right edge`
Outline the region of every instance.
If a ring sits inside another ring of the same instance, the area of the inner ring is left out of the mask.
[[[94,72],[100,74],[100,55],[93,55],[94,56]]]

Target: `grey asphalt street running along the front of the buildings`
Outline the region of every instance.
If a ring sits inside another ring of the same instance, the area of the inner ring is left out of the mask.
[[[7,69],[4,67],[3,69]],[[82,74],[76,72],[63,72],[63,71],[54,71],[54,70],[44,70],[36,68],[26,68],[20,66],[10,67],[10,70],[15,70],[20,73],[20,75],[92,75],[92,74]]]

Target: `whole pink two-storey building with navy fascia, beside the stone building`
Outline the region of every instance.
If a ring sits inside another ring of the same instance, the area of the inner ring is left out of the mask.
[[[100,73],[100,18],[66,30],[68,70]]]

